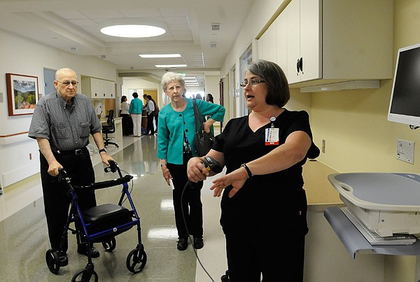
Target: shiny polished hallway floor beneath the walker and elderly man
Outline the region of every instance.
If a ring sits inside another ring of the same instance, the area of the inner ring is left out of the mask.
[[[157,137],[125,139],[122,148],[110,148],[123,174],[137,176],[129,183],[135,209],[141,222],[141,241],[148,262],[139,274],[127,270],[128,253],[137,246],[137,230],[119,234],[116,249],[106,253],[101,244],[95,244],[101,255],[93,260],[99,281],[195,281],[196,258],[193,248],[180,252],[176,249],[177,232],[172,204],[172,190],[165,182],[156,156]],[[127,142],[126,142],[127,141]],[[96,182],[118,178],[106,173],[97,153],[92,155]],[[69,234],[69,265],[61,267],[59,275],[52,274],[45,263],[48,235],[43,213],[40,180],[35,177],[29,187],[38,185],[38,197],[29,198],[31,204],[0,221],[0,273],[2,281],[70,281],[73,274],[83,269],[87,258],[76,253],[76,237]],[[29,193],[31,193],[31,190]],[[98,204],[118,203],[122,186],[97,190]],[[7,193],[7,192],[6,192]],[[11,197],[13,193],[9,194]],[[1,196],[1,197],[4,197]],[[25,202],[13,195],[14,202]],[[6,199],[6,198],[3,198]],[[124,205],[129,206],[127,201]],[[4,206],[3,208],[4,209]],[[165,265],[165,267],[162,267]]]

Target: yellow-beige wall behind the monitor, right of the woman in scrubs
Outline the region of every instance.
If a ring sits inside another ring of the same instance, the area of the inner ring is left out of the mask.
[[[393,62],[398,48],[420,42],[420,1],[395,0]],[[380,46],[379,46],[380,48]],[[339,172],[396,171],[420,173],[420,131],[387,121],[393,80],[374,90],[313,93],[311,128],[325,153],[318,160]],[[414,164],[396,160],[396,139],[417,143]],[[386,256],[384,281],[416,281],[416,257]]]

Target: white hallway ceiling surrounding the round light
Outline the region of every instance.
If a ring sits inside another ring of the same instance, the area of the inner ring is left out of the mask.
[[[0,0],[0,29],[77,55],[100,57],[127,76],[160,78],[155,64],[187,64],[187,76],[219,71],[253,0]],[[106,20],[158,20],[167,32],[151,38],[101,34]],[[211,24],[220,24],[220,31]],[[0,39],[1,40],[1,39]],[[215,43],[216,47],[211,47]],[[179,53],[181,58],[142,59],[139,54]],[[130,74],[129,74],[130,73]]]

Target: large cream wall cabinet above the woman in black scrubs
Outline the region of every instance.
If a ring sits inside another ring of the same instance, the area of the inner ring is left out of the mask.
[[[290,87],[390,79],[393,1],[291,0],[258,39],[258,59],[279,64]]]

